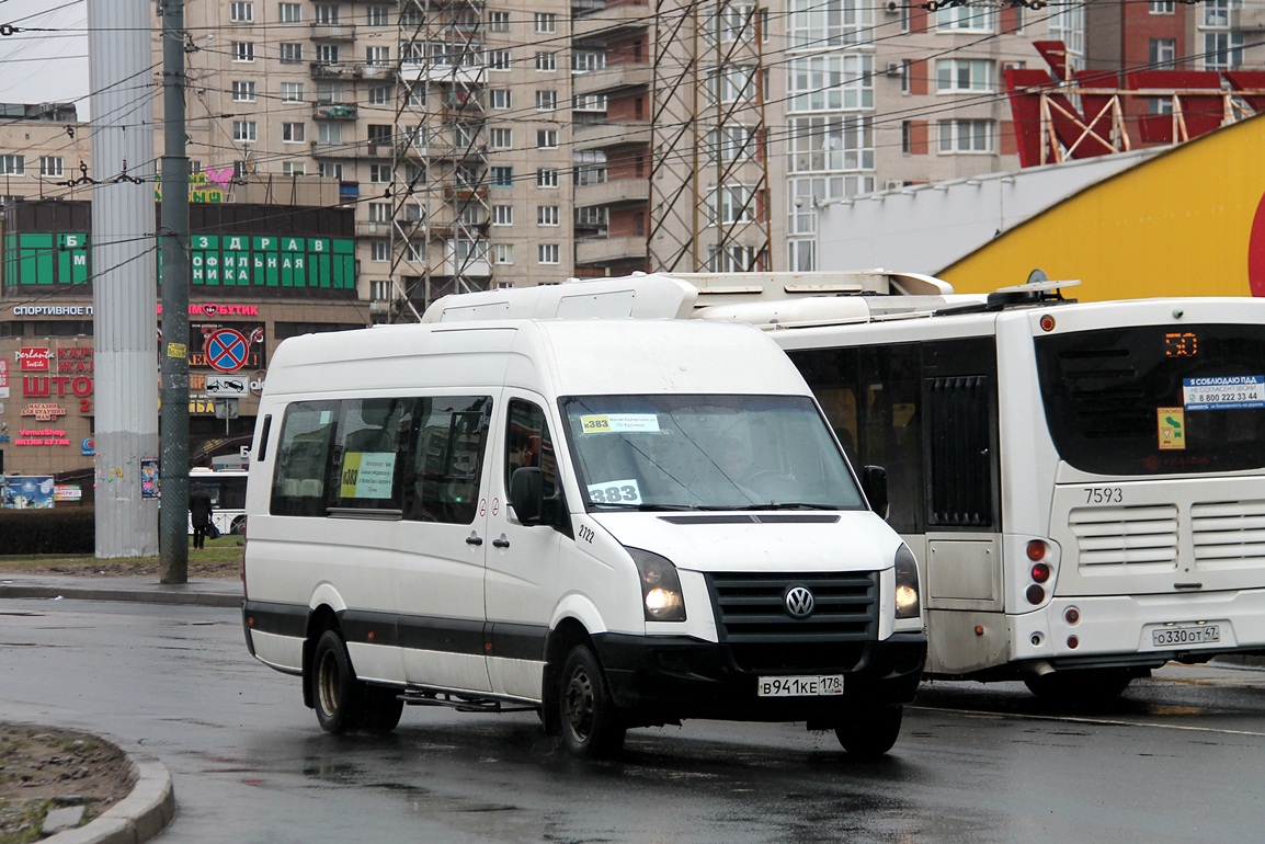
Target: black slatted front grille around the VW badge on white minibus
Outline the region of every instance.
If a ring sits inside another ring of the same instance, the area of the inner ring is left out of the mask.
[[[707,582],[720,639],[735,655],[745,649],[762,654],[762,662],[777,662],[794,659],[797,650],[818,654],[825,647],[830,662],[831,648],[878,635],[877,572],[729,572],[710,573]],[[787,592],[797,586],[812,592],[813,609],[805,617],[787,609]]]

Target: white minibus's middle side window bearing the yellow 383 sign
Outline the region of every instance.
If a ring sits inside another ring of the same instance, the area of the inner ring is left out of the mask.
[[[334,506],[400,511],[405,449],[412,434],[415,399],[343,401],[335,439],[338,485]]]

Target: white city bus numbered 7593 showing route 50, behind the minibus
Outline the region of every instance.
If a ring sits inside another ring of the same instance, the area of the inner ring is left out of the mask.
[[[1265,301],[679,277],[692,316],[765,328],[854,462],[885,467],[927,677],[1093,700],[1171,659],[1265,652]]]

